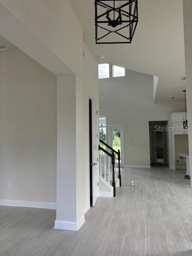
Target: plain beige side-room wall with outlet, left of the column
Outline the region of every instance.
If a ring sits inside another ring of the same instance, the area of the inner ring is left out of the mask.
[[[0,199],[56,202],[56,76],[22,51],[0,53],[0,182]]]

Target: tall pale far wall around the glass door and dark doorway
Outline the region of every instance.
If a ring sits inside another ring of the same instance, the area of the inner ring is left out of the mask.
[[[125,165],[150,166],[148,122],[168,121],[171,112],[184,110],[184,102],[154,104],[153,93],[153,76],[131,70],[99,80],[100,116],[107,116],[108,126],[124,126]]]

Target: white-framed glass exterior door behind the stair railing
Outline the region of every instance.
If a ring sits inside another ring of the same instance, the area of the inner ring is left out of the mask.
[[[124,166],[124,138],[123,138],[123,126],[122,125],[110,125],[109,126],[109,144],[110,146],[121,153],[121,166]],[[117,161],[118,164],[118,161]]]

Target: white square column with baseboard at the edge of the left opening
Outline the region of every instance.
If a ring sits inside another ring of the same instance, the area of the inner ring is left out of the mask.
[[[57,76],[57,215],[55,228],[84,223],[83,175],[76,166],[76,77]],[[78,186],[77,183],[81,184]],[[78,198],[79,200],[78,200]]]

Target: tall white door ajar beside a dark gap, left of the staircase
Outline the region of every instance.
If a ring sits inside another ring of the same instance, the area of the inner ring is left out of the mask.
[[[98,103],[89,98],[90,206],[95,206],[99,195],[98,145]]]

